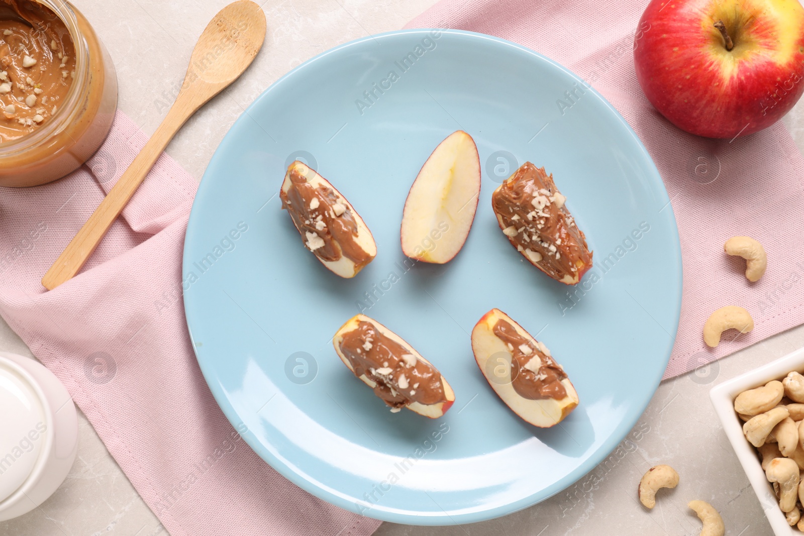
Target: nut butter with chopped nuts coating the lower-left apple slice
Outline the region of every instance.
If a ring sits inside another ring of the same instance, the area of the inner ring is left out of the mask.
[[[355,376],[366,375],[376,383],[374,394],[388,406],[400,408],[418,402],[446,402],[441,373],[410,354],[404,346],[379,333],[371,322],[360,321],[343,335],[340,350],[349,359]]]

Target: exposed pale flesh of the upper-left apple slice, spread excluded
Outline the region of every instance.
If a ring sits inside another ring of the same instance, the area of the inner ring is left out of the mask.
[[[338,197],[338,203],[341,203],[346,211],[351,213],[352,218],[355,220],[355,224],[357,226],[357,236],[355,236],[355,242],[359,246],[359,248],[363,249],[363,252],[366,252],[367,255],[370,257],[368,262],[358,265],[355,264],[355,261],[347,258],[345,255],[341,255],[338,260],[323,260],[321,257],[316,255],[316,259],[320,260],[321,263],[331,272],[334,272],[338,276],[350,278],[357,275],[357,273],[363,269],[374,257],[377,255],[377,244],[374,241],[374,236],[371,235],[371,231],[368,230],[368,227],[365,222],[363,222],[363,218],[355,211],[355,207],[351,206],[351,203],[347,201],[347,198],[343,196],[326,178],[323,178],[321,175],[318,174],[315,170],[311,169],[309,166],[302,162],[293,162],[290,166],[288,166],[288,171],[285,174],[285,180],[282,182],[282,192],[287,194],[290,190],[290,187],[293,186],[293,179],[291,178],[291,173],[295,170],[298,174],[301,174],[302,177],[306,179],[306,182],[313,186],[314,188],[318,188],[318,186],[323,186],[324,188],[330,188],[334,191],[334,194]],[[305,236],[304,232],[299,229],[296,220],[293,219],[293,226],[296,227],[296,230],[299,231],[299,234],[302,238]],[[337,244],[337,242],[335,242]],[[338,244],[338,248],[340,245]],[[315,252],[313,252],[315,253]]]

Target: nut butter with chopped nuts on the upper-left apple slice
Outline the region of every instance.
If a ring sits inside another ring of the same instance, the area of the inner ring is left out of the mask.
[[[306,237],[305,246],[318,258],[334,261],[347,257],[362,268],[373,256],[357,242],[358,226],[349,204],[331,188],[313,186],[293,166],[289,170],[291,186],[281,191],[282,208],[289,212],[299,232]]]

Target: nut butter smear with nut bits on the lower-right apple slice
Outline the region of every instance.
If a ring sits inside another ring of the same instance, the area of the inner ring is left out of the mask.
[[[529,400],[560,400],[567,396],[561,384],[567,374],[544,343],[534,344],[502,319],[494,324],[492,331],[511,350],[511,386],[519,396]]]

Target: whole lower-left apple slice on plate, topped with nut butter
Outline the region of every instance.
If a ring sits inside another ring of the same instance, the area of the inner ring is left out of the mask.
[[[399,335],[363,314],[342,325],[332,344],[343,364],[391,411],[407,407],[437,419],[455,401],[452,387],[436,367]],[[389,396],[391,402],[386,399]]]

